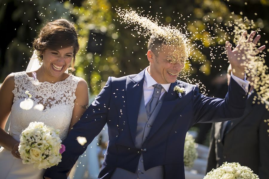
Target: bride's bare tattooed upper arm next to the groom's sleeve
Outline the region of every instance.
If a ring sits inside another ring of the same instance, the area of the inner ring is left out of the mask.
[[[75,106],[73,109],[69,131],[72,129],[74,124],[77,123],[77,121],[80,119],[82,114],[88,108],[88,103],[89,103],[88,85],[87,85],[87,82],[82,78],[77,84],[75,95],[77,98],[74,101]]]

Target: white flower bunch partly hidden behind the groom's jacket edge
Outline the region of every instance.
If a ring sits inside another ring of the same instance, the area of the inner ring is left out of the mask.
[[[192,167],[197,157],[194,138],[187,132],[184,144],[184,166]]]

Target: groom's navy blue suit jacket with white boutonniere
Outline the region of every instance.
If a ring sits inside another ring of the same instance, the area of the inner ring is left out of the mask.
[[[136,75],[108,78],[106,86],[63,141],[66,150],[62,162],[47,169],[45,176],[66,178],[66,173],[107,123],[108,147],[99,178],[110,178],[117,167],[135,172],[143,152],[145,170],[163,166],[165,179],[184,179],[184,141],[189,128],[196,123],[238,118],[244,112],[246,92],[233,78],[225,99],[204,96],[195,85],[177,80],[165,94],[142,148],[137,149],[135,136],[144,73],[145,70]],[[181,98],[173,91],[176,85],[185,88]],[[77,142],[78,136],[87,139],[84,146]]]

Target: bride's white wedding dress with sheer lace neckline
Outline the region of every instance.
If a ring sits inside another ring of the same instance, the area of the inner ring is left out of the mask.
[[[64,81],[39,82],[36,78],[29,77],[26,72],[13,73],[15,88],[13,105],[10,113],[10,126],[8,133],[17,141],[19,135],[28,127],[30,122],[44,122],[54,129],[60,130],[60,138],[66,138],[72,112],[74,109],[75,91],[80,80],[79,77],[70,75]],[[34,76],[34,75],[33,75]],[[27,95],[32,95],[34,105],[43,104],[44,110],[24,110],[20,108]],[[4,101],[2,101],[4,102]],[[32,164],[23,164],[22,159],[13,157],[11,152],[1,147],[0,149],[0,178],[7,179],[42,179],[45,170],[33,168]]]

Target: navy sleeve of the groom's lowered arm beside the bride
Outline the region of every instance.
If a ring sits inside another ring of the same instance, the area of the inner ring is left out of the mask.
[[[108,106],[111,95],[111,77],[108,78],[106,86],[88,107],[81,119],[73,126],[67,138],[62,144],[65,152],[62,153],[62,162],[46,170],[44,177],[52,179],[66,179],[67,173],[72,169],[78,157],[85,152],[87,146],[100,133],[106,124]],[[80,145],[77,137],[85,137],[87,143]]]

